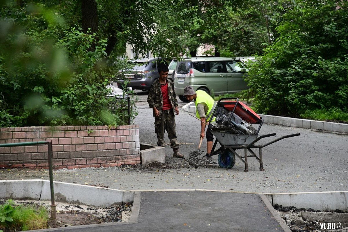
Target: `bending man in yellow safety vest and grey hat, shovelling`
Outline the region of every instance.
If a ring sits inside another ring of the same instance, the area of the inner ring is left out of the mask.
[[[184,96],[185,98],[191,102],[192,100],[195,100],[196,105],[196,117],[201,120],[200,122],[200,136],[201,138],[206,137],[207,138],[207,154],[203,156],[204,159],[211,161],[211,151],[213,148],[213,141],[214,137],[211,133],[210,129],[207,129],[207,133],[205,136],[205,126],[206,123],[209,121],[209,119],[212,117],[214,108],[216,106],[216,102],[214,99],[209,96],[205,91],[203,90],[193,90],[191,86],[186,86],[184,89]]]

